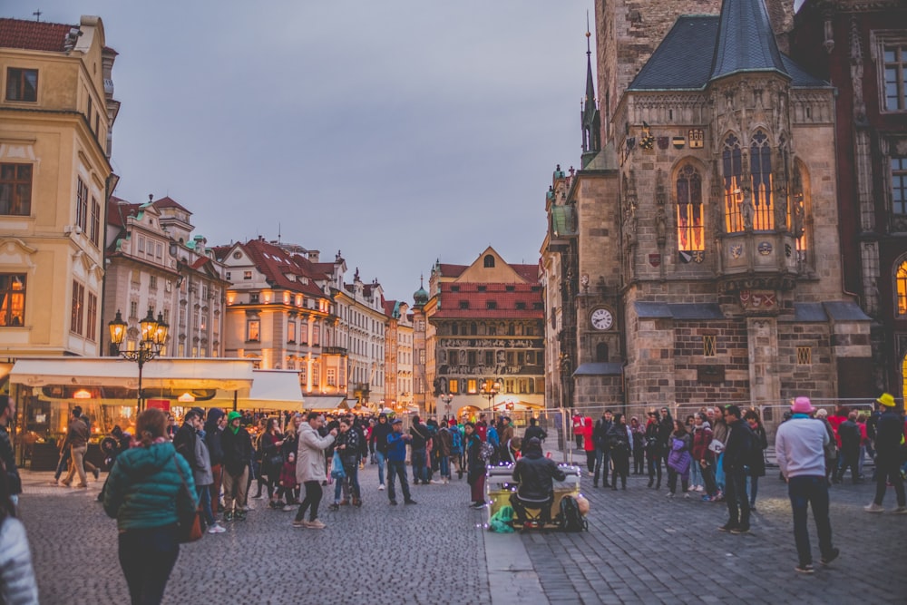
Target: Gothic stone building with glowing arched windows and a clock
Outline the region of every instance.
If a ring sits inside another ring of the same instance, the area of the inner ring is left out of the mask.
[[[834,89],[782,53],[792,8],[769,5],[596,3],[602,93],[590,60],[581,169],[546,200],[565,405],[873,394],[869,317],[842,290]]]

